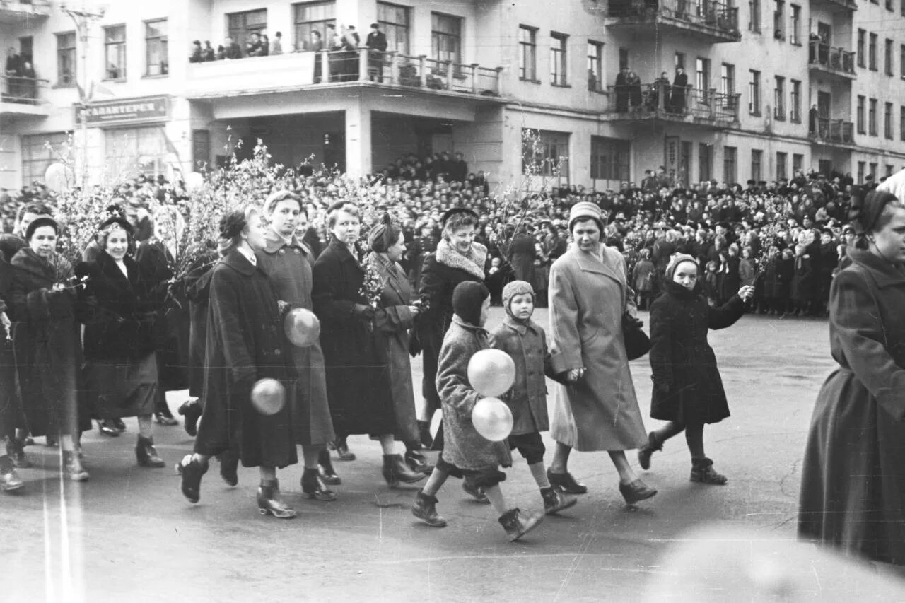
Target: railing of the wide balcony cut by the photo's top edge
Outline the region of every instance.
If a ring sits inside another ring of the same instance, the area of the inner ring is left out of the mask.
[[[738,8],[715,0],[609,0],[607,16],[621,23],[663,20],[703,27],[729,38],[740,38]]]

